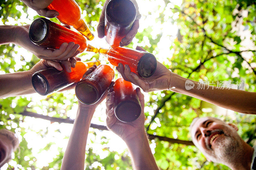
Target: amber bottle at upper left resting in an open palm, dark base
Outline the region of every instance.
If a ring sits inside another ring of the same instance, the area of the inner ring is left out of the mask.
[[[42,47],[55,49],[60,48],[63,42],[75,42],[75,44],[80,46],[78,48],[80,53],[84,50],[98,52],[97,48],[86,43],[82,34],[76,33],[46,18],[35,19],[29,26],[28,34],[34,44]]]

